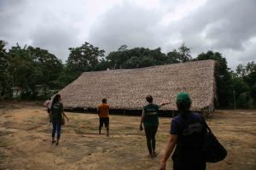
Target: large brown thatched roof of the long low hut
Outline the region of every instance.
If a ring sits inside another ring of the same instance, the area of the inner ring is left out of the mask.
[[[84,72],[60,91],[66,108],[96,108],[107,98],[110,108],[140,110],[151,94],[154,103],[170,101],[163,110],[177,110],[176,97],[187,92],[193,111],[213,107],[215,97],[213,60],[157,65],[141,69]]]

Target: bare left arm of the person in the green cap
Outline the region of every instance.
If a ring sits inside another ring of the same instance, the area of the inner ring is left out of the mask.
[[[177,134],[171,134],[169,138],[169,142],[166,146],[166,151],[162,160],[160,161],[160,170],[166,170],[166,161],[171,156],[172,150],[174,149],[175,145],[177,144]]]

